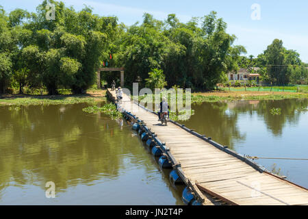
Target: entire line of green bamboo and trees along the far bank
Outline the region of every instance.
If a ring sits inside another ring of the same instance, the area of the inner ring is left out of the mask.
[[[55,5],[55,20],[47,19],[48,3]],[[76,12],[57,1],[42,1],[36,13],[0,8],[0,92],[27,86],[82,93],[94,84],[102,62],[125,67],[127,85],[211,90],[227,80],[226,73],[253,66],[261,67],[264,80],[307,83],[307,66],[281,40],[249,58],[226,29],[216,12],[188,23],[175,14],[166,21],[144,14],[141,24],[127,27],[115,16],[98,16],[87,6]]]

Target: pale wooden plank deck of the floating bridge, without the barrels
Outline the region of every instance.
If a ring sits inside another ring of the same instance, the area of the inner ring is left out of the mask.
[[[115,98],[114,91],[108,93]],[[139,107],[129,96],[123,96],[120,107],[138,116],[161,142],[166,142],[183,175],[202,192],[204,205],[215,204],[208,194],[231,205],[308,205],[306,188],[260,172],[178,125],[162,126],[156,114]]]

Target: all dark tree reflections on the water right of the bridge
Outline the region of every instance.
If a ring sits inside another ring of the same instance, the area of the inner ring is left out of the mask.
[[[237,126],[240,114],[257,114],[274,136],[281,136],[286,124],[296,125],[300,113],[296,110],[306,108],[308,99],[285,99],[281,101],[233,101],[230,103],[202,103],[193,105],[194,116],[184,122],[198,133],[211,136],[216,142],[231,148],[235,141],[246,139]],[[272,115],[272,108],[281,108],[281,115]],[[250,123],[248,118],[247,123]],[[252,127],[253,129],[253,127]]]

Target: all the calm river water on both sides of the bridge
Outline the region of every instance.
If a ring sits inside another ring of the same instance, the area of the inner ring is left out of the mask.
[[[170,170],[159,169],[131,127],[87,114],[87,106],[0,107],[0,205],[182,205],[183,186],[171,185]],[[308,158],[308,112],[297,111],[307,106],[307,99],[202,103],[182,123],[241,154]],[[307,161],[257,163],[308,187]],[[47,182],[55,198],[46,197]]]

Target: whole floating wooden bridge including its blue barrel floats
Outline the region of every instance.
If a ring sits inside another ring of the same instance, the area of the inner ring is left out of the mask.
[[[112,100],[116,93],[107,90]],[[187,204],[216,205],[308,205],[308,192],[290,181],[273,175],[250,159],[171,121],[168,126],[157,116],[123,96],[120,108],[125,118],[142,133],[152,147],[159,165],[172,167],[170,177],[187,185],[183,201]],[[137,117],[138,116],[138,117]],[[164,143],[162,143],[164,142]]]

